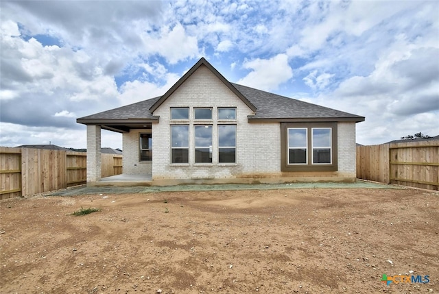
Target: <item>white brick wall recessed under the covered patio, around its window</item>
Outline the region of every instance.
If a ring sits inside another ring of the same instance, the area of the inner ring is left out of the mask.
[[[129,133],[123,133],[122,173],[127,175],[151,175],[152,162],[139,160],[139,136],[140,133],[147,132],[151,132],[151,130],[130,130]],[[154,138],[152,138],[152,140],[154,140]]]

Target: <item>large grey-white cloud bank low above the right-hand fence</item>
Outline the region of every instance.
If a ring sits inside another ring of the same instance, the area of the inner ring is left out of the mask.
[[[345,79],[318,99],[322,105],[366,117],[357,125],[359,143],[385,143],[416,132],[438,134],[439,66],[431,61],[439,55],[439,46],[417,42],[396,36],[369,75]]]

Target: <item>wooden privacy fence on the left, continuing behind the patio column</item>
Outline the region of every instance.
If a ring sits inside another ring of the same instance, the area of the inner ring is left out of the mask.
[[[120,154],[102,154],[102,177],[122,173]],[[0,147],[0,199],[86,183],[84,152]]]

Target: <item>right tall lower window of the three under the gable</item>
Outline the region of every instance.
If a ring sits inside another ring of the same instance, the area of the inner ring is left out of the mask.
[[[236,125],[218,125],[218,162],[236,162]]]

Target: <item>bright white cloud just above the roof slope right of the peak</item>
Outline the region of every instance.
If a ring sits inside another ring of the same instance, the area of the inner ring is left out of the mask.
[[[259,88],[261,90],[276,89],[280,84],[293,77],[293,71],[288,64],[286,54],[278,54],[270,59],[255,59],[244,62],[245,69],[250,73],[239,79],[238,84]]]

